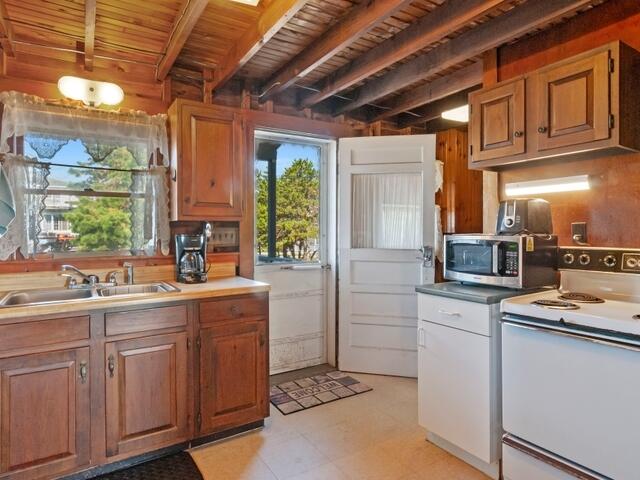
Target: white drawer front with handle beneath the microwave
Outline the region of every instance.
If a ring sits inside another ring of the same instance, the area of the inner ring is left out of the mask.
[[[487,337],[493,334],[492,314],[497,315],[498,308],[498,304],[484,305],[426,294],[418,296],[418,316],[421,320]]]

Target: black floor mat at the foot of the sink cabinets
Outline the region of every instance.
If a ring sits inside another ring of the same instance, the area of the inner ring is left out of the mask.
[[[204,480],[191,455],[176,455],[151,460],[135,467],[95,477],[95,480]]]

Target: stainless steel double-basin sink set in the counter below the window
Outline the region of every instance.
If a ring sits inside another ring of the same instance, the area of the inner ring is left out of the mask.
[[[145,295],[153,293],[179,292],[180,289],[165,282],[143,283],[137,285],[117,285],[87,288],[49,288],[42,290],[17,290],[0,298],[0,307],[41,305],[77,300],[92,300],[101,297],[121,295]]]

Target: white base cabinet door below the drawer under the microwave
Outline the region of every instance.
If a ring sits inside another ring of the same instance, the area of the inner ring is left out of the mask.
[[[421,420],[487,463],[492,458],[490,338],[430,322],[424,329]]]

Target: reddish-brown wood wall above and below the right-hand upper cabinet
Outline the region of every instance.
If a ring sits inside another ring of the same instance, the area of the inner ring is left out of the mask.
[[[640,2],[611,0],[566,24],[499,51],[499,80],[507,80],[549,63],[621,40],[640,50]],[[639,84],[640,86],[640,84]],[[640,105],[637,106],[640,108]],[[571,222],[588,223],[593,246],[640,248],[640,154],[595,160],[552,160],[514,167],[500,174],[504,184],[588,174],[593,179],[588,192],[549,194],[554,230],[560,243],[570,245]]]

